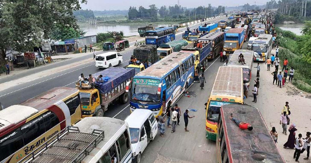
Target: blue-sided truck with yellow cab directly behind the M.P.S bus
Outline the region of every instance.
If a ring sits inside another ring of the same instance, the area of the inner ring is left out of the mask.
[[[203,66],[207,66],[207,56],[211,52],[212,44],[209,41],[205,41],[203,44],[202,48],[197,48],[194,42],[189,43],[187,46],[181,47],[182,50],[180,52],[191,52],[196,56],[196,60],[194,62],[195,71],[198,71]]]

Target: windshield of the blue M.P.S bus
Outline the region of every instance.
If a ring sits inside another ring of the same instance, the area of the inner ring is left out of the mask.
[[[158,85],[160,80],[156,79],[133,79],[132,100],[146,102],[160,102]]]

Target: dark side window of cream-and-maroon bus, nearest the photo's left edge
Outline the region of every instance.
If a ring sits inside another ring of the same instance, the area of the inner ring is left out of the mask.
[[[11,133],[8,133],[3,137],[0,137],[0,141],[0,160],[4,160],[12,153],[24,147],[23,134],[21,133],[20,128],[15,129]]]

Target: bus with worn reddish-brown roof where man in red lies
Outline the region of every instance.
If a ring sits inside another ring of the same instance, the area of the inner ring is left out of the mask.
[[[235,119],[252,125],[253,130],[239,129],[239,126],[230,120],[231,113]],[[217,163],[285,163],[260,111],[253,106],[242,104],[221,106],[217,140]],[[254,159],[260,155],[264,160]]]

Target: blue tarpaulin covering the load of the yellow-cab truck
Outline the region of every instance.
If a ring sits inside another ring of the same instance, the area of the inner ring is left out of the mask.
[[[110,67],[106,70],[93,74],[93,77],[97,78],[99,75],[103,75],[103,79],[107,81],[104,83],[95,82],[95,87],[99,90],[99,93],[104,94],[112,91],[121,83],[134,77],[135,70],[121,67]]]

